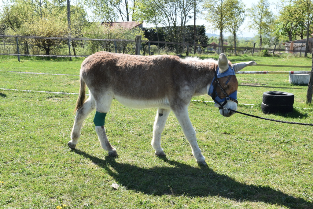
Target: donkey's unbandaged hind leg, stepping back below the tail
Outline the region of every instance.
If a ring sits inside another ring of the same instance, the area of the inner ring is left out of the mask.
[[[81,127],[87,116],[95,109],[95,100],[90,95],[86,102],[76,110],[76,116],[71,133],[71,140],[67,143],[69,148],[75,149],[78,138],[80,137]]]

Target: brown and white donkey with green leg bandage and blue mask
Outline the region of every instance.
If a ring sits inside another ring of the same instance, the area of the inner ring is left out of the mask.
[[[161,148],[161,133],[172,111],[190,143],[199,165],[207,165],[199,149],[196,132],[188,116],[187,107],[194,96],[208,93],[213,97],[224,117],[237,110],[238,81],[235,72],[254,61],[232,64],[224,54],[219,59],[173,55],[139,56],[97,52],[87,57],[80,70],[80,90],[76,102],[76,116],[68,146],[75,149],[83,121],[96,109],[94,123],[101,147],[110,156],[117,156],[105,133],[105,115],[113,99],[132,108],[157,107],[153,126],[152,147],[157,156],[165,156]],[[213,83],[214,81],[214,83]],[[90,96],[86,100],[86,85]],[[217,86],[219,88],[217,88]],[[221,104],[223,102],[223,104]]]

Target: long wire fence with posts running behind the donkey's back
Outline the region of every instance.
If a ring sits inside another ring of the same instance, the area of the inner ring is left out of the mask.
[[[0,35],[0,55],[15,56],[49,56],[49,57],[87,57],[97,51],[108,51],[123,54],[135,54],[140,47],[141,55],[162,54],[193,54],[196,53],[234,53],[233,46],[218,46],[216,44],[188,44],[162,41],[142,40],[136,43],[128,39],[87,39],[58,38],[37,36]],[[195,50],[194,50],[195,48]],[[286,50],[270,48],[236,47],[236,53],[254,53],[266,50],[268,53],[304,53],[304,50]]]

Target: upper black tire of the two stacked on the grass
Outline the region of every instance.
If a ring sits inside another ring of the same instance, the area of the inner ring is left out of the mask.
[[[294,104],[295,95],[283,91],[266,91],[262,102],[271,106],[290,107]]]

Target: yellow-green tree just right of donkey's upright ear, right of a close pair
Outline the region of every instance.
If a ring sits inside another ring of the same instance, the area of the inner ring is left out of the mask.
[[[232,18],[229,18],[227,27],[231,34],[233,34],[234,45],[235,45],[235,54],[237,54],[237,41],[236,37],[239,32],[240,26],[244,23],[246,18],[244,3],[241,0],[229,0],[228,2],[230,11],[228,15]]]

